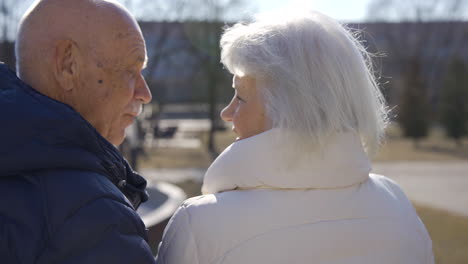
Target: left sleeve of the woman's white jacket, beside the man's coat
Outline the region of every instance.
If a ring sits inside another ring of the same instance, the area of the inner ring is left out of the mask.
[[[199,263],[197,243],[190,227],[190,215],[183,205],[177,209],[164,230],[156,263]]]

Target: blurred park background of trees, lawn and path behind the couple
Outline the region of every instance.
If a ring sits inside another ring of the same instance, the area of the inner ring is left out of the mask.
[[[18,22],[32,2],[0,0],[0,60],[11,68]],[[219,63],[223,27],[257,12],[301,8],[361,33],[392,109],[373,171],[396,180],[414,202],[437,263],[468,263],[468,0],[120,2],[138,19],[148,49],[144,75],[153,102],[120,150],[150,187],[164,189],[150,190],[141,211],[166,210],[145,221],[159,224],[153,248],[173,212],[162,205],[199,195],[206,168],[235,139],[219,118],[233,95]]]

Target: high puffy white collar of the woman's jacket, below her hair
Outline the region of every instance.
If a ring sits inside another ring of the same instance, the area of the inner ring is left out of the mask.
[[[231,144],[208,168],[202,192],[344,188],[368,179],[370,161],[356,134],[335,136],[322,152],[288,155],[284,150],[290,146],[277,140],[279,132],[272,129]]]

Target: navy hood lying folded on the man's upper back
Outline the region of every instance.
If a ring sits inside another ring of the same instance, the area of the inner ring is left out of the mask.
[[[78,112],[32,89],[4,64],[0,79],[0,177],[92,171],[107,176],[135,208],[148,199],[143,177]]]

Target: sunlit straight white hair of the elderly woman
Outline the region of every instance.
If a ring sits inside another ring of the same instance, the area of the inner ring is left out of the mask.
[[[371,56],[337,21],[318,12],[262,15],[227,28],[220,43],[224,66],[257,80],[273,127],[314,146],[355,132],[368,153],[377,149],[385,100]]]

